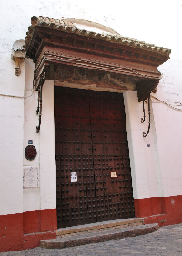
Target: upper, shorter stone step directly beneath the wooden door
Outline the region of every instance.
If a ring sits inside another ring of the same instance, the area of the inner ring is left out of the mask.
[[[117,228],[137,226],[137,225],[143,225],[143,224],[144,224],[143,218],[115,219],[115,220],[61,228],[56,231],[56,236],[63,236],[67,234],[85,232],[85,231],[117,229]]]

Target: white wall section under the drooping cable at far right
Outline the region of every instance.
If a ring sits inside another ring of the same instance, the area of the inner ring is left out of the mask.
[[[182,112],[161,103],[152,103],[160,157],[164,196],[181,195],[181,119]]]

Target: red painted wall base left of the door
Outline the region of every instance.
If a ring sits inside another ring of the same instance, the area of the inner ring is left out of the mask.
[[[0,216],[0,252],[34,248],[40,240],[56,238],[56,209]]]

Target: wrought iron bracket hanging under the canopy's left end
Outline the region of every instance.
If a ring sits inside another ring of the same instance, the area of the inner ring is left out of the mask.
[[[43,90],[43,84],[45,81],[45,72],[42,72],[40,75],[40,80],[39,80],[39,84],[38,87],[36,89],[36,91],[38,91],[38,106],[36,109],[36,114],[39,116],[38,120],[38,126],[36,126],[36,133],[38,133],[40,131],[40,125],[41,125],[41,116],[42,116],[42,90]]]

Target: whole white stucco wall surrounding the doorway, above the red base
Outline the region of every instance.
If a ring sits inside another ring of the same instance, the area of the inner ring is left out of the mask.
[[[30,59],[26,59],[25,64],[21,64],[21,75],[16,77],[15,64],[11,60],[11,48],[16,40],[25,39],[31,17],[74,17],[92,20],[113,28],[122,36],[171,48],[171,59],[159,67],[163,77],[155,96],[177,107],[175,102],[182,103],[181,12],[179,0],[173,2],[165,0],[1,1],[0,195],[3,197],[0,197],[0,205],[4,207],[0,208],[0,214],[56,207],[53,172],[54,141],[51,140],[54,137],[53,83],[45,82],[43,120],[40,133],[36,133],[37,92],[25,99],[25,105],[24,99],[21,98],[32,94],[34,64]],[[143,113],[142,104],[138,104],[136,92],[126,92],[125,102],[134,197],[181,194],[182,112],[170,109],[162,102],[152,99],[151,132],[144,139],[142,133],[147,131],[147,121],[140,122]],[[31,162],[31,165],[39,166],[40,188],[23,192],[23,166],[30,165],[24,156],[29,139],[33,140],[37,149],[41,149],[41,155],[37,150],[38,155]],[[147,147],[148,143],[150,147]],[[47,155],[51,157],[50,162],[47,160]],[[51,183],[50,187],[46,187],[48,181]]]

